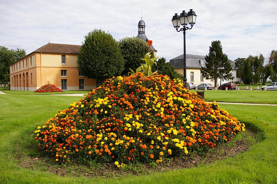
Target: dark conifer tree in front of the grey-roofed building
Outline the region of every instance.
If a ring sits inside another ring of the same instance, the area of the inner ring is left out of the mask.
[[[215,87],[217,87],[217,79],[234,79],[232,76],[232,66],[229,62],[228,56],[223,54],[220,40],[212,42],[209,49],[209,55],[205,56],[206,67],[201,67],[201,73],[206,79],[214,79]],[[217,67],[224,67],[218,71]]]

